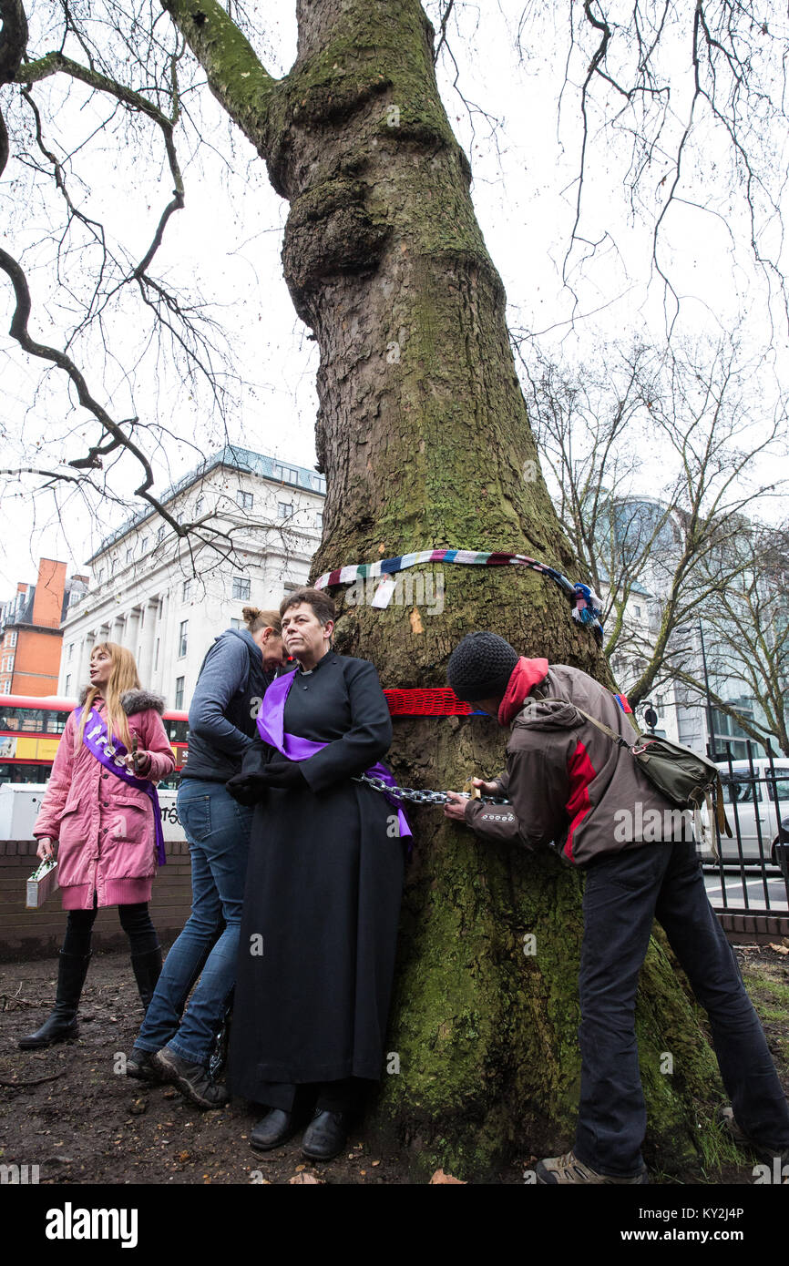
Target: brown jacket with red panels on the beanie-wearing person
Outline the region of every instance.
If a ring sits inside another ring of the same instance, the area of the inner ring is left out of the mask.
[[[629,751],[578,710],[632,746],[636,730],[619,698],[580,668],[548,668],[545,660],[522,658],[519,665],[534,685],[512,722],[507,771],[496,780],[510,804],[470,800],[467,824],[479,836],[527,848],[552,844],[575,866],[683,838],[685,830],[690,838],[685,815],[645,777]]]

